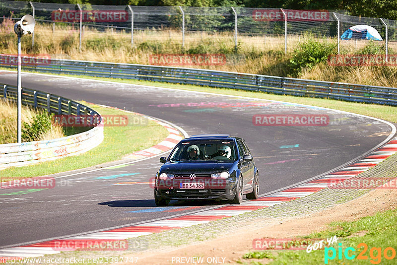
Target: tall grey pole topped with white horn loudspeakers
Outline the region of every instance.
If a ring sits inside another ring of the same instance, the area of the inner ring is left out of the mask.
[[[31,15],[24,15],[20,21],[14,25],[14,32],[18,36],[18,73],[17,73],[17,86],[18,86],[18,143],[22,142],[22,129],[21,129],[21,101],[22,101],[22,86],[21,86],[21,37],[25,34],[32,34],[34,30],[35,20]]]

